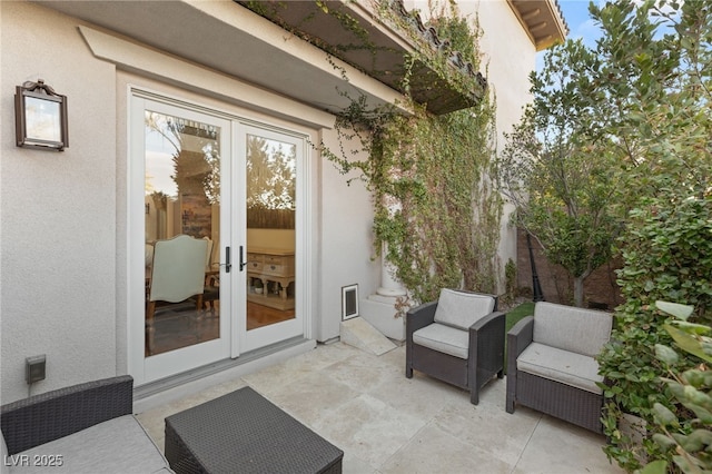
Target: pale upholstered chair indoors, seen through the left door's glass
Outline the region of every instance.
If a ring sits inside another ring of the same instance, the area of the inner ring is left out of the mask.
[[[154,345],[154,316],[158,303],[175,304],[194,298],[196,310],[201,312],[207,247],[207,240],[187,235],[157,240],[154,245],[146,307],[149,354]]]

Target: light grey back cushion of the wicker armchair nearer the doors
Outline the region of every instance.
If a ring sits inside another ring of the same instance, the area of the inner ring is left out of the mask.
[[[493,310],[492,296],[443,288],[435,308],[435,322],[467,330],[475,322]]]

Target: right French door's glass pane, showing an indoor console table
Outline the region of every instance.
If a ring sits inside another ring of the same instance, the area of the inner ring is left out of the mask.
[[[247,330],[295,317],[297,147],[247,135]]]

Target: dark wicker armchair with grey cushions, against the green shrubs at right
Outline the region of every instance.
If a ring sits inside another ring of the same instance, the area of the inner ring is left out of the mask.
[[[596,355],[611,338],[609,313],[540,302],[507,333],[506,411],[528,406],[602,433]]]

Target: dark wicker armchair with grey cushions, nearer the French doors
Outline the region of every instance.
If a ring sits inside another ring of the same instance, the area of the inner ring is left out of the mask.
[[[406,314],[405,376],[419,371],[468,389],[476,405],[479,389],[504,374],[505,316],[494,295],[443,288]]]

